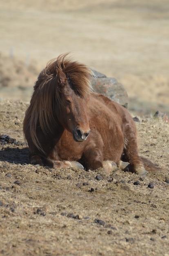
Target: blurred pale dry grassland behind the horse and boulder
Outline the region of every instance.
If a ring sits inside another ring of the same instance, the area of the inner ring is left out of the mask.
[[[30,101],[46,63],[114,77],[140,115],[169,114],[169,0],[0,0],[0,99]]]

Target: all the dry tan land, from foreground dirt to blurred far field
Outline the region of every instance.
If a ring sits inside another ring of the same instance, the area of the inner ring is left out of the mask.
[[[169,256],[169,123],[153,117],[169,114],[168,0],[1,1],[0,35],[0,255]],[[124,85],[140,155],[159,171],[29,164],[33,83],[69,51]]]

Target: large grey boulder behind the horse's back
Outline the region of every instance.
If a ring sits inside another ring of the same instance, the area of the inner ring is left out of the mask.
[[[116,101],[120,105],[127,108],[128,95],[121,83],[115,78],[108,78],[104,74],[93,70],[96,78],[92,78],[91,85],[94,92],[107,96],[112,101]]]

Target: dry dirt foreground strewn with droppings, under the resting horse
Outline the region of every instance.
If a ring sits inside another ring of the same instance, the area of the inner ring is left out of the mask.
[[[46,169],[27,159],[27,106],[0,102],[1,135],[17,142],[0,146],[0,255],[168,256],[169,124],[136,122],[140,155],[162,168],[147,177],[120,169],[108,176],[101,168]]]

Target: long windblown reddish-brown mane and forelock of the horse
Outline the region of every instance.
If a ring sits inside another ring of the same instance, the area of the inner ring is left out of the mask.
[[[34,85],[30,105],[25,113],[24,133],[26,130],[29,131],[33,143],[43,153],[37,137],[37,127],[40,126],[46,135],[47,132],[52,132],[51,125],[57,126],[55,113],[53,113],[53,102],[57,101],[58,107],[60,105],[58,95],[60,84],[57,70],[60,69],[64,72],[69,85],[80,97],[85,98],[91,91],[91,76],[94,76],[92,70],[84,64],[72,61],[67,55],[62,54],[49,61],[40,72]]]

